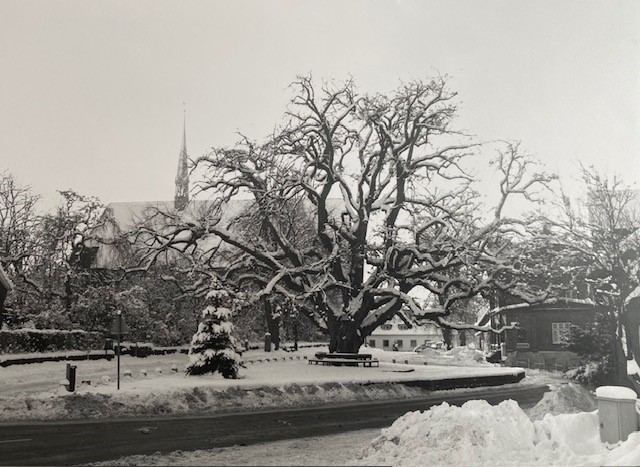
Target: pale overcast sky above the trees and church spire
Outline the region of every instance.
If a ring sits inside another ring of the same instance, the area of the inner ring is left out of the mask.
[[[190,156],[278,123],[297,74],[451,76],[458,126],[567,178],[640,178],[640,1],[0,2],[0,170],[51,199],[172,199]]]

